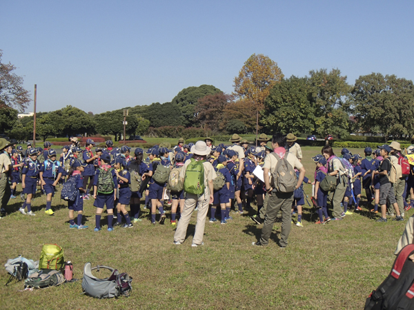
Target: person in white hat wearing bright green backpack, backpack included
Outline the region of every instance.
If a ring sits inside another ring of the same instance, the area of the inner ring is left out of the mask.
[[[190,152],[193,157],[184,163],[181,170],[184,176],[184,192],[186,200],[184,210],[177,225],[174,235],[174,244],[181,245],[186,238],[188,223],[191,215],[198,205],[197,225],[192,247],[203,245],[204,226],[206,225],[206,216],[208,205],[213,203],[213,180],[217,177],[213,165],[206,161],[206,156],[210,154],[210,149],[204,141],[197,141]]]

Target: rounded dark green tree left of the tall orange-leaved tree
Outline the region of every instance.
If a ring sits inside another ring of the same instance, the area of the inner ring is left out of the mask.
[[[171,103],[177,105],[182,118],[180,118],[181,125],[186,127],[197,125],[195,107],[200,98],[209,94],[217,94],[221,92],[213,85],[200,85],[199,87],[191,86],[184,88],[172,99]],[[155,126],[154,126],[155,127]]]

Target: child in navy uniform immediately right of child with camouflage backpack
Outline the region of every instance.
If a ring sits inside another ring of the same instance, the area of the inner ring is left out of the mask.
[[[122,218],[121,212],[124,215],[126,220],[126,224],[122,227],[124,228],[131,228],[134,225],[131,223],[130,216],[128,211],[126,211],[125,206],[130,204],[132,192],[130,190],[129,184],[131,181],[130,172],[126,169],[126,162],[123,156],[119,156],[115,158],[115,174],[117,174],[118,178],[118,204],[117,204],[117,222],[116,225],[121,225]]]

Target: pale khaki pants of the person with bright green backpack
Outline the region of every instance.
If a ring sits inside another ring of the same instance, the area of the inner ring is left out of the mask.
[[[179,222],[177,225],[177,230],[174,234],[174,242],[184,242],[187,234],[188,223],[190,223],[191,215],[195,209],[195,206],[198,202],[198,212],[197,212],[197,224],[195,225],[195,233],[193,238],[193,243],[196,245],[201,245],[203,242],[204,236],[204,226],[206,225],[206,216],[208,212],[208,201],[210,196],[204,194],[197,198],[197,195],[186,194],[186,200],[184,203],[184,210],[181,213]]]

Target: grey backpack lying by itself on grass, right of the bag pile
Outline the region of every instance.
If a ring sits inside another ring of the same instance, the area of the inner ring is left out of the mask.
[[[108,269],[112,274],[108,278],[99,279],[92,275],[92,270]],[[107,266],[90,268],[90,262],[83,267],[82,289],[88,296],[95,298],[112,298],[130,295],[132,278],[127,273],[119,273],[117,269]]]

